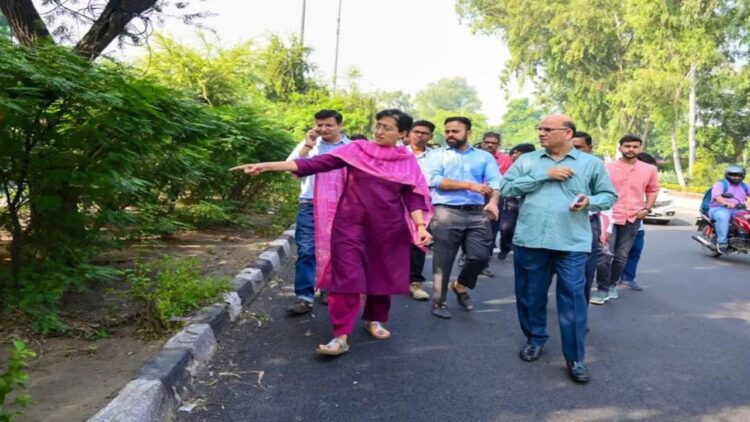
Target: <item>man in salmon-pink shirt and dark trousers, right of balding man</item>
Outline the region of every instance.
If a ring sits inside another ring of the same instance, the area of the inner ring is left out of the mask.
[[[607,164],[607,172],[617,191],[617,202],[612,208],[611,244],[614,245],[612,262],[600,265],[597,269],[597,291],[591,296],[591,303],[604,305],[610,299],[617,299],[617,281],[622,277],[641,221],[651,211],[659,193],[659,180],[656,167],[638,161],[643,140],[634,135],[620,139],[619,160]]]

